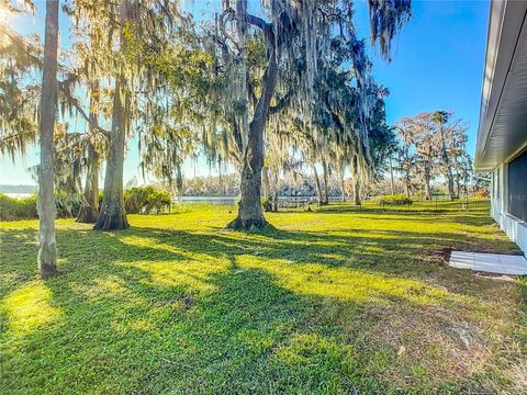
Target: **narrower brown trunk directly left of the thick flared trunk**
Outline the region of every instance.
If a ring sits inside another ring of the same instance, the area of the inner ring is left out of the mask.
[[[98,104],[99,84],[96,82],[92,88],[92,98],[90,103],[90,119],[94,121],[97,114],[94,109]],[[94,94],[93,94],[94,93]],[[91,132],[91,131],[90,131]],[[91,136],[90,136],[91,137]],[[80,207],[77,222],[85,224],[94,224],[99,218],[99,172],[100,172],[100,157],[91,138],[88,138],[87,145],[87,172],[86,184],[82,199],[82,206]]]

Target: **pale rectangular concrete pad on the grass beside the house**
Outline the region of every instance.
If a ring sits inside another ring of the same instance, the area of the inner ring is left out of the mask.
[[[527,259],[524,256],[452,251],[448,264],[487,273],[527,274]]]

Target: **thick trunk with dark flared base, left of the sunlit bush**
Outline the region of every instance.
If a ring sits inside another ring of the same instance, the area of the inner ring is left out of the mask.
[[[113,95],[112,131],[106,154],[106,172],[104,176],[104,192],[101,212],[93,229],[119,230],[130,227],[124,210],[123,198],[123,166],[124,146],[126,140],[125,108],[121,100],[121,78],[115,79]],[[125,102],[128,100],[124,94]]]

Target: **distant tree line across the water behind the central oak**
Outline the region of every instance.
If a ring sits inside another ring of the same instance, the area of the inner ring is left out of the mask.
[[[383,120],[383,117],[381,119]],[[368,183],[335,153],[318,163],[302,160],[305,151],[268,151],[264,166],[265,198],[317,195],[351,198],[357,204],[371,195],[404,193],[425,200],[434,194],[453,200],[484,190],[484,177],[472,179],[472,159],[467,151],[468,124],[452,112],[435,111],[405,117],[389,127],[384,122],[369,129],[374,177]],[[335,147],[337,148],[337,147]],[[347,170],[348,176],[345,177]],[[322,174],[322,176],[319,176]],[[183,195],[237,195],[239,179],[233,174],[198,177],[182,182]]]

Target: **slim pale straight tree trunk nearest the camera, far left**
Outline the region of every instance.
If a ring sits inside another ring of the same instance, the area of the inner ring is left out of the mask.
[[[38,268],[47,278],[57,272],[56,207],[53,196],[53,131],[57,114],[58,0],[46,2],[41,94],[41,165],[38,167]]]

